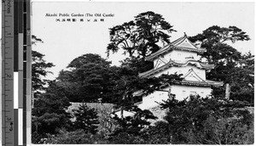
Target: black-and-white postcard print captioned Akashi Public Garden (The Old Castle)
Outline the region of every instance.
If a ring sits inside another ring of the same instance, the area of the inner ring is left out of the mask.
[[[253,144],[254,3],[32,1],[32,143]]]

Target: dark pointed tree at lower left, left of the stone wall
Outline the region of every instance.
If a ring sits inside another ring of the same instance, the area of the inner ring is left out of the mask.
[[[32,143],[42,143],[47,134],[56,134],[61,128],[71,128],[71,115],[66,112],[70,103],[61,91],[55,81],[50,81],[45,93],[35,99],[32,108]]]

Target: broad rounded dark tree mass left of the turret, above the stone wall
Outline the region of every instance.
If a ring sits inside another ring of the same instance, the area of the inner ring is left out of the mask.
[[[140,78],[135,67],[110,66],[106,59],[91,53],[73,59],[67,69],[61,70],[56,81],[63,88],[64,95],[73,102],[99,102],[101,99],[102,103],[122,104],[121,99],[129,98],[134,103],[132,93],[141,89],[152,93],[160,89],[160,81],[164,78],[171,81],[167,77]]]

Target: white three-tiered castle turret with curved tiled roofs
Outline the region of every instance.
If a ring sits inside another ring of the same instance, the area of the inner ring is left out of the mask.
[[[159,51],[152,53],[146,60],[154,62],[154,68],[140,73],[141,77],[161,76],[162,74],[183,74],[183,81],[177,81],[170,87],[143,97],[138,104],[141,109],[149,109],[157,106],[157,102],[166,100],[168,92],[176,94],[176,98],[182,100],[189,95],[200,95],[202,98],[212,93],[212,86],[222,86],[222,81],[210,81],[206,78],[206,70],[212,70],[214,65],[200,61],[201,53],[206,52],[205,48],[196,47],[189,41],[188,36],[178,38]],[[171,90],[172,89],[172,90]],[[140,93],[135,93],[139,95]],[[140,94],[141,95],[141,94]]]

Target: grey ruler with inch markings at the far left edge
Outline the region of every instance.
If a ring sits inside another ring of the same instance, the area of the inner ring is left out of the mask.
[[[2,31],[2,80],[3,94],[2,97],[2,144],[3,145],[13,145],[14,144],[14,103],[9,102],[8,106],[5,100],[13,101],[14,96],[14,65],[13,59],[6,59],[13,57],[14,48],[14,2],[11,0],[2,1],[2,26],[4,26]],[[8,27],[5,27],[8,26]],[[5,37],[9,36],[9,37]],[[7,70],[8,69],[8,70]],[[5,80],[8,78],[10,80]],[[10,91],[10,92],[9,92]]]

